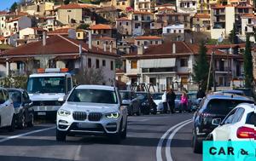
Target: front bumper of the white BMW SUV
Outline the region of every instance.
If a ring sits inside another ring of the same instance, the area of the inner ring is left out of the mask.
[[[57,129],[75,135],[111,135],[119,132],[121,118],[102,118],[98,122],[57,118]]]

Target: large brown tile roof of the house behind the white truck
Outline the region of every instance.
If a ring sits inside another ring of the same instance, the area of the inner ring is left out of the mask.
[[[114,53],[104,52],[102,49],[92,47],[89,49],[87,43],[81,43],[78,40],[55,35],[46,39],[46,45],[42,41],[26,43],[15,49],[9,49],[3,52],[3,56],[27,56],[27,55],[73,55],[79,54],[79,44],[82,44],[83,52],[96,55],[118,56]]]

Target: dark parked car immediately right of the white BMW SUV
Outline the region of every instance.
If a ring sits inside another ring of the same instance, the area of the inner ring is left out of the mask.
[[[122,103],[128,107],[128,114],[137,116],[141,115],[140,101],[134,91],[131,90],[119,90],[122,97]]]

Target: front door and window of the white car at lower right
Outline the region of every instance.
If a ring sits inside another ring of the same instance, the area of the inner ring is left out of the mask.
[[[235,116],[237,109],[232,110],[226,118],[224,118],[223,122],[218,126],[215,131],[215,141],[228,141],[228,137],[230,134],[230,124]]]

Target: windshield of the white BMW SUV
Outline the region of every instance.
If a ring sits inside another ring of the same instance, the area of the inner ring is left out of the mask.
[[[67,101],[117,104],[114,91],[103,89],[74,89]]]

